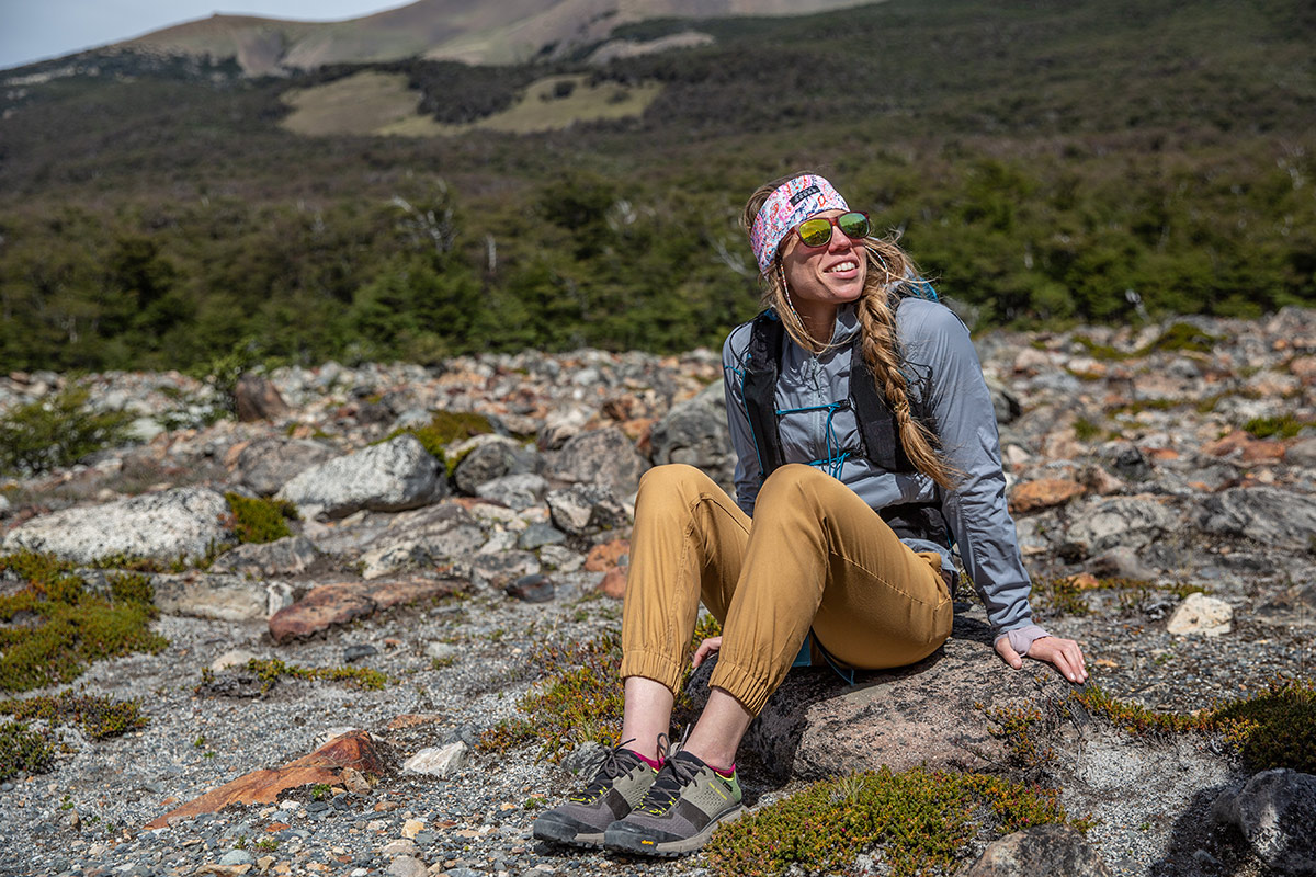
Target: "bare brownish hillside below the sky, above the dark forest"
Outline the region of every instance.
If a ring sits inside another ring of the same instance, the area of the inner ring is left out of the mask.
[[[216,14],[113,47],[234,58],[249,75],[412,57],[513,63],[599,46],[619,25],[650,18],[800,16],[865,1],[873,0],[417,0],[332,24]],[[625,47],[607,54],[617,51]]]

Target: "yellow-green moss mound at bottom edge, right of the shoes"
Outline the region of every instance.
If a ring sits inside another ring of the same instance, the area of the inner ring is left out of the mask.
[[[719,877],[851,873],[873,853],[895,877],[950,874],[973,841],[1070,819],[1057,793],[980,773],[913,768],[826,780],[721,826],[705,852]]]

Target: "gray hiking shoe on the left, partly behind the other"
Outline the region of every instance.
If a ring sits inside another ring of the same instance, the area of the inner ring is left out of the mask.
[[[630,740],[626,740],[630,743]],[[594,780],[566,803],[540,814],[534,836],[559,844],[597,847],[604,830],[640,803],[658,772],[638,755],[622,748],[603,756]]]

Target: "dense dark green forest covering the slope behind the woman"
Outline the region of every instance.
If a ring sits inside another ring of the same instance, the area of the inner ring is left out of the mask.
[[[540,134],[279,126],[287,89],[362,67],[120,54],[11,80],[0,364],[716,346],[757,306],[744,199],[797,168],[979,327],[1316,305],[1305,0],[890,0],[700,29],[716,42],[601,67],[374,66],[445,122],[549,74],[663,85],[642,117]]]

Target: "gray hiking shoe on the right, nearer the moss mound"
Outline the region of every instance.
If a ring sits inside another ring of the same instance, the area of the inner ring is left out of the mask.
[[[641,856],[680,856],[700,849],[713,828],[744,811],[734,773],[724,777],[696,756],[678,752],[630,815],[608,826],[603,845]]]

